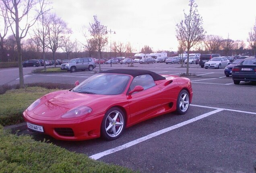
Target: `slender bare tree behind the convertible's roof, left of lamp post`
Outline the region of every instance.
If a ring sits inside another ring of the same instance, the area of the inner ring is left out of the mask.
[[[93,40],[96,44],[96,50],[99,52],[99,59],[101,59],[102,51],[104,50],[105,46],[107,45],[107,26],[101,25],[97,16],[93,16],[94,23],[89,23],[91,28],[89,32],[93,37]],[[99,63],[99,71],[101,71],[101,63]]]

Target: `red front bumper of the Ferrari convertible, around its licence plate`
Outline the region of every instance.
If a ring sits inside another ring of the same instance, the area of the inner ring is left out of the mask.
[[[93,115],[72,121],[42,121],[31,118],[26,111],[23,118],[26,122],[43,127],[43,133],[64,141],[82,141],[100,137],[101,122],[104,115]],[[62,135],[58,129],[72,129],[73,136]],[[39,132],[42,133],[42,132]]]

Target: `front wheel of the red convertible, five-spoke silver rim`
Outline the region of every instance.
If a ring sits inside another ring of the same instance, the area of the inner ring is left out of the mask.
[[[105,113],[101,123],[101,137],[108,141],[117,139],[124,131],[124,127],[124,112],[118,107],[113,107]]]

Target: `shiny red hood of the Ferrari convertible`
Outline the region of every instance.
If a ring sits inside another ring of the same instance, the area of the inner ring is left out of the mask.
[[[71,109],[91,105],[106,96],[64,91],[54,97],[44,97],[41,98],[39,106],[33,110],[33,119],[54,121]]]

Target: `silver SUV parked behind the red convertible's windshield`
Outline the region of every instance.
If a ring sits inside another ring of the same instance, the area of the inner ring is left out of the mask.
[[[66,70],[70,72],[76,72],[77,70],[93,70],[96,67],[96,63],[93,58],[75,58],[70,60],[66,65]]]

